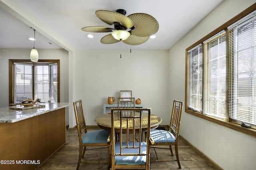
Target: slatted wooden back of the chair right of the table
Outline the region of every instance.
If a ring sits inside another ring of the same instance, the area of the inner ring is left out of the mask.
[[[183,102],[174,100],[173,106],[172,106],[172,115],[171,115],[169,131],[171,133],[174,133],[176,135],[176,138],[179,136],[179,131],[180,131],[182,106],[183,106]]]

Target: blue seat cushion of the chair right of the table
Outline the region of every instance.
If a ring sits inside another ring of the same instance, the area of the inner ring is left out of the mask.
[[[169,131],[152,129],[150,136],[154,139],[155,143],[170,143],[175,142],[175,137]]]

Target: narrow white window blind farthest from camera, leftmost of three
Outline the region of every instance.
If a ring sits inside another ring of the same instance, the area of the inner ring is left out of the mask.
[[[202,111],[202,44],[188,51],[188,107]]]

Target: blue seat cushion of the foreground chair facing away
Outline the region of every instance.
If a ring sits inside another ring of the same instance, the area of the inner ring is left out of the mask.
[[[126,143],[122,143],[122,146],[126,146]],[[132,146],[132,142],[129,142],[129,146]],[[136,142],[135,146],[139,146],[139,143]],[[122,149],[122,153],[138,153],[139,149]],[[142,142],[141,144],[141,153],[146,154],[147,152],[147,143]],[[120,143],[115,143],[115,153],[120,153]],[[116,165],[145,165],[146,156],[115,156]]]

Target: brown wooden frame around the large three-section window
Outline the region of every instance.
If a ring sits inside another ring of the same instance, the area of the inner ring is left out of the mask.
[[[241,20],[242,18],[244,18],[245,16],[247,16],[248,14],[252,13],[255,10],[256,10],[256,3],[253,4],[252,6],[250,6],[249,8],[247,8],[246,10],[244,10],[243,12],[241,12],[240,14],[238,14],[237,16],[235,16],[234,18],[232,18],[231,20],[227,21],[226,23],[224,23],[223,25],[221,25],[220,27],[218,27],[217,29],[215,29],[214,31],[212,31],[211,33],[209,33],[208,35],[206,35],[205,37],[203,37],[202,39],[200,39],[199,41],[197,41],[196,43],[194,43],[193,45],[191,45],[190,47],[188,47],[186,49],[185,106],[184,106],[186,113],[190,113],[194,116],[200,117],[202,119],[206,119],[213,123],[217,123],[224,127],[228,127],[230,129],[234,129],[236,131],[239,131],[239,132],[242,132],[242,133],[245,133],[248,135],[252,135],[254,137],[256,137],[256,127],[252,127],[250,129],[241,127],[240,122],[238,122],[238,121],[234,121],[234,120],[230,120],[230,119],[228,121],[224,121],[221,119],[217,119],[215,117],[204,115],[198,111],[193,111],[192,109],[190,109],[188,107],[188,82],[189,82],[189,80],[188,80],[188,71],[189,71],[188,70],[188,51],[190,49],[196,47],[198,44],[203,43],[205,40],[209,39],[210,37],[213,37],[220,31],[227,29],[228,26],[232,25],[233,23],[237,22],[238,20]],[[226,101],[226,102],[228,102],[228,101]]]

